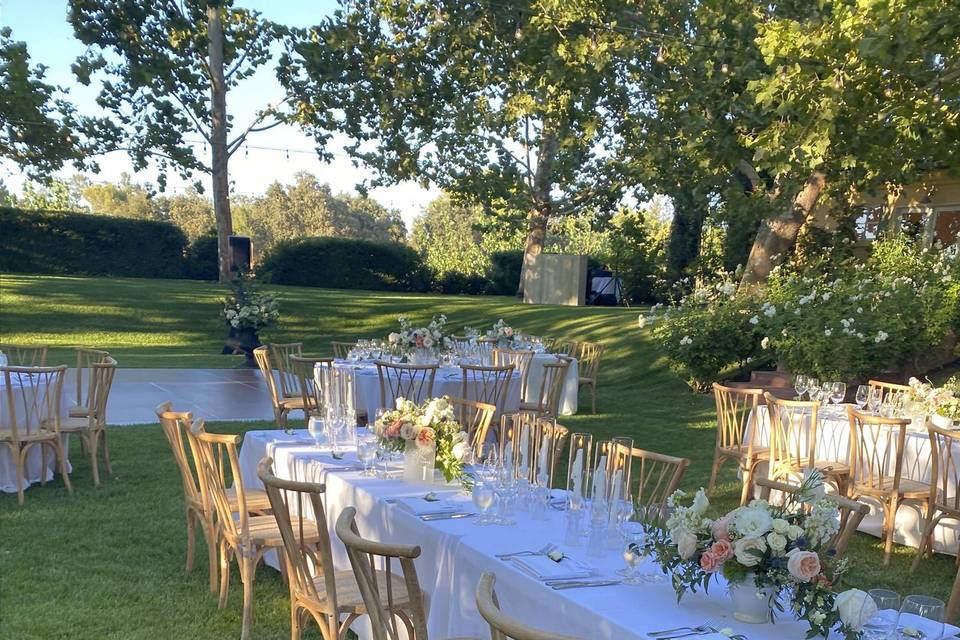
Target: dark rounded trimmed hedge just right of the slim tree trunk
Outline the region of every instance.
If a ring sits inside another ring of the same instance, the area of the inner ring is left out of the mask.
[[[303,238],[276,245],[257,267],[273,284],[374,291],[427,291],[419,254],[394,242]]]

